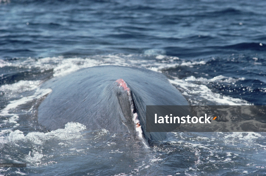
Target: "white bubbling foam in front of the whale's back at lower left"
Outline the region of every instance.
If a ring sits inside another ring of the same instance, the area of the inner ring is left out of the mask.
[[[66,141],[65,143],[68,143],[70,140],[76,140],[82,137],[82,134],[80,133],[82,130],[85,130],[86,126],[82,125],[80,123],[74,123],[69,122],[65,125],[64,129],[57,129],[51,132],[42,133],[42,132],[30,132],[26,136],[22,131],[15,130],[11,131],[11,133],[6,136],[3,141],[0,141],[0,145],[2,143],[6,145],[16,145],[17,147],[24,147],[25,145],[21,144],[22,142],[24,144],[27,144],[27,146],[30,147],[31,150],[29,151],[29,154],[23,158],[27,163],[34,164],[34,165],[47,165],[47,163],[42,163],[42,159],[47,159],[49,157],[52,157],[51,154],[45,154],[43,153],[42,149],[46,145],[45,143],[47,141],[56,143],[57,141]],[[103,133],[105,133],[106,130],[102,130]],[[58,145],[63,145],[63,147],[67,146],[67,144],[60,142]],[[19,145],[18,145],[19,144]],[[39,148],[38,146],[42,146]],[[54,149],[51,149],[54,151]],[[77,152],[81,150],[75,150]],[[12,159],[12,158],[10,158]],[[54,161],[51,161],[52,163]],[[50,163],[50,162],[48,162]]]

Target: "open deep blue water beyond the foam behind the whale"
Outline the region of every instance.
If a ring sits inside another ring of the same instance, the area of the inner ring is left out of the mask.
[[[140,54],[151,48],[189,59],[232,53],[255,57],[266,48],[265,5],[10,0],[0,6],[1,58]]]

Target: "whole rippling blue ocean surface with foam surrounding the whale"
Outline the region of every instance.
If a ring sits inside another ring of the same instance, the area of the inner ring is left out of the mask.
[[[191,105],[266,105],[266,1],[0,0],[0,175],[266,175],[266,133],[47,131],[43,82],[119,65],[166,75]]]

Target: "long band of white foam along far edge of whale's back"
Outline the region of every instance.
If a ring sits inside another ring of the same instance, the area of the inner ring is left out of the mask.
[[[145,57],[145,55],[154,56],[155,60],[150,59],[138,59],[140,56]],[[44,57],[39,59],[27,58],[24,60],[18,60],[13,62],[0,61],[0,67],[4,66],[14,66],[26,69],[39,69],[41,72],[45,70],[53,69],[53,76],[63,76],[67,73],[74,72],[76,70],[93,67],[98,65],[119,65],[119,66],[129,66],[129,67],[144,67],[150,70],[161,72],[161,69],[181,66],[191,66],[191,65],[204,65],[205,61],[183,61],[182,63],[176,62],[179,57],[164,55],[162,50],[152,49],[145,52],[145,55],[95,55],[87,58],[73,57],[64,58],[62,56],[58,57]]]

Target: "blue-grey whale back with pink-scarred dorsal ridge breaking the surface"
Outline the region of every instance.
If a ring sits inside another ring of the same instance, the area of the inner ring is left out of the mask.
[[[144,68],[88,67],[54,77],[42,88],[52,89],[38,107],[38,123],[49,131],[78,122],[89,130],[163,141],[166,132],[146,131],[146,105],[189,105],[165,75]]]

